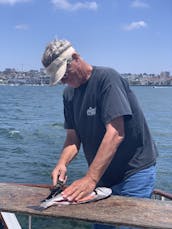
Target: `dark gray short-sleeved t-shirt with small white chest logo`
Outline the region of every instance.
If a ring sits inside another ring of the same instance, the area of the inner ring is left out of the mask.
[[[93,67],[89,80],[79,88],[64,90],[65,128],[75,129],[88,165],[104,137],[105,125],[124,117],[125,138],[100,184],[110,187],[156,162],[157,149],[137,99],[127,81],[115,70]]]

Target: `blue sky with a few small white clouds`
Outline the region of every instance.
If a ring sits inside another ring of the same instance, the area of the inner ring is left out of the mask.
[[[60,38],[92,65],[172,74],[171,24],[172,0],[0,0],[0,71],[41,68]]]

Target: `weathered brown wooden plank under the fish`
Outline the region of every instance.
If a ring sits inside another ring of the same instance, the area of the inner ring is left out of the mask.
[[[110,225],[172,229],[172,202],[111,196],[81,205],[53,206],[41,211],[40,201],[49,189],[0,184],[0,211],[71,218]]]

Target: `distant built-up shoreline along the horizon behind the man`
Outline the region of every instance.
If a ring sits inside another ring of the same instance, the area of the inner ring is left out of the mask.
[[[168,71],[161,72],[158,75],[147,73],[120,73],[120,75],[126,79],[131,86],[172,86],[172,75],[170,75]],[[44,86],[49,85],[49,82],[50,76],[45,73],[44,69],[40,69],[40,71],[30,70],[23,72],[9,68],[0,72],[0,85]]]

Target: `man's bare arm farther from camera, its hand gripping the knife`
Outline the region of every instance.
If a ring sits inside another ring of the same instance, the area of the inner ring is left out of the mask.
[[[57,184],[57,180],[65,181],[67,174],[67,165],[76,156],[80,148],[80,141],[75,130],[67,130],[66,140],[59,161],[52,171],[53,185]]]

